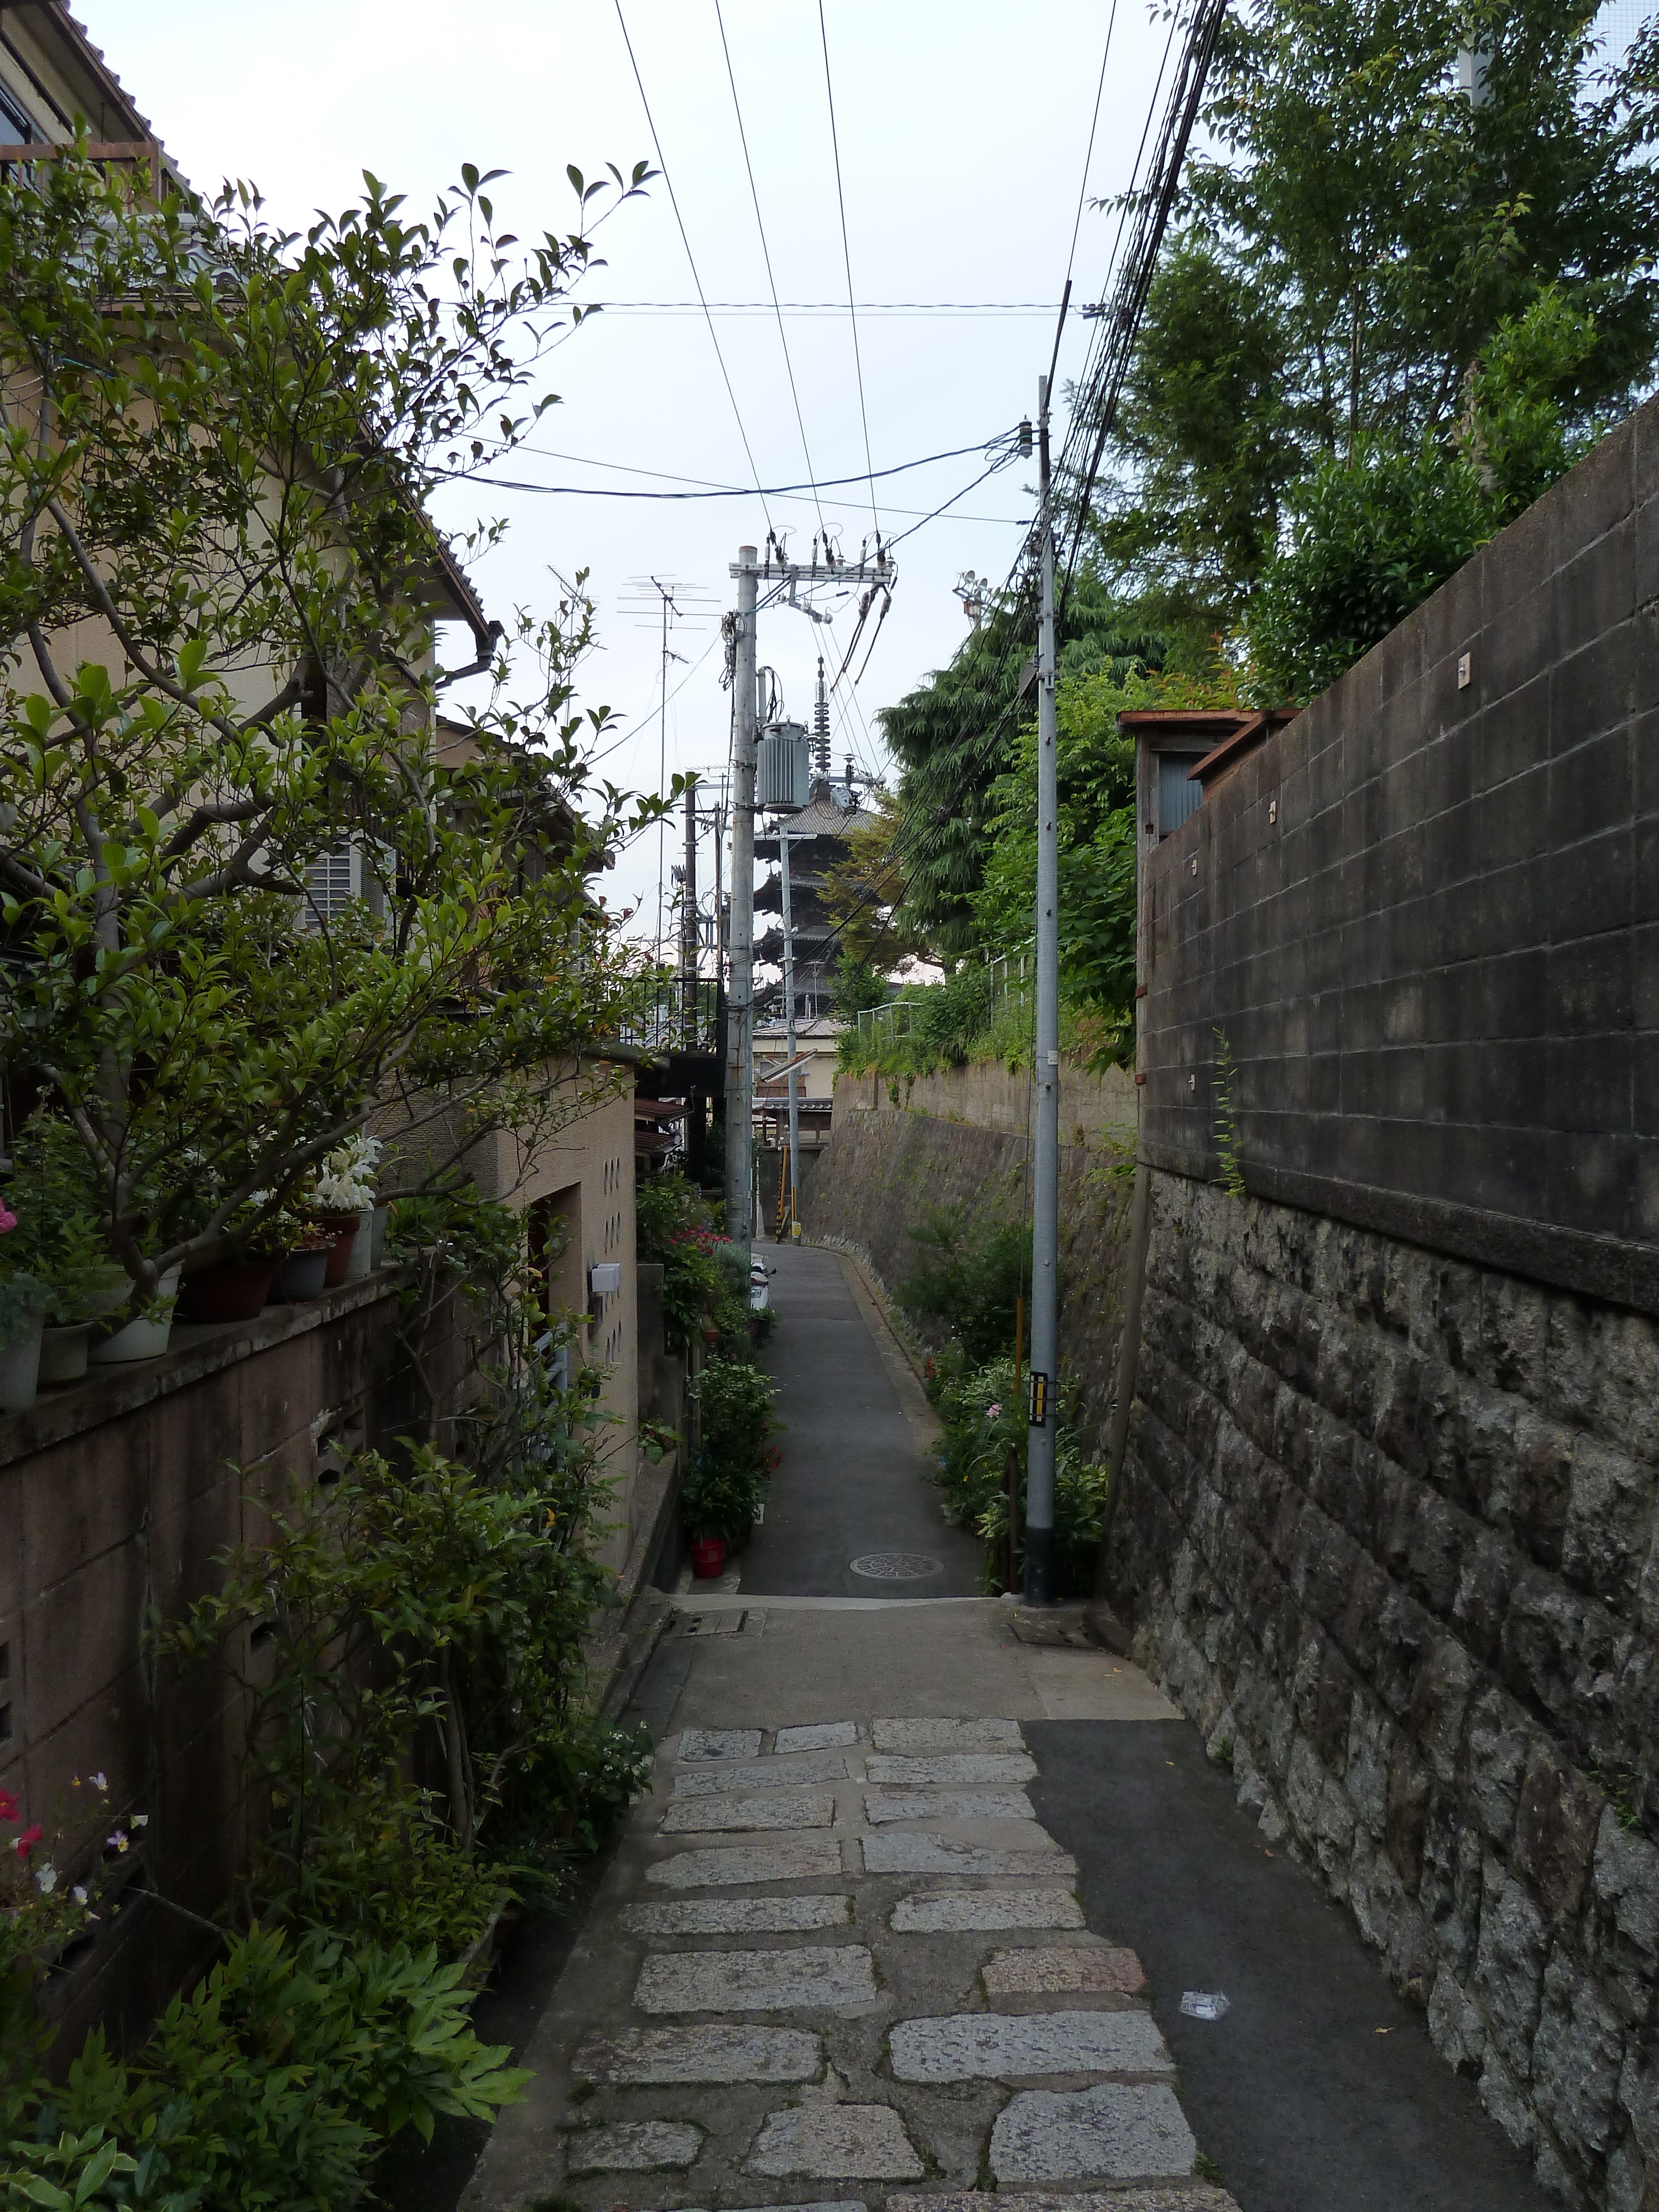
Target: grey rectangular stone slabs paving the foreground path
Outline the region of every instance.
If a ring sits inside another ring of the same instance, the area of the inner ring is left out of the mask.
[[[469,2212],[1237,2212],[1020,1723],[794,1719],[664,1739]]]

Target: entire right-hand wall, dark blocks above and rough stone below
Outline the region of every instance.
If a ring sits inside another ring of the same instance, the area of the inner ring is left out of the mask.
[[[1615,2212],[1659,2203],[1657,953],[1650,405],[1146,858],[1108,1562],[1241,1803]]]

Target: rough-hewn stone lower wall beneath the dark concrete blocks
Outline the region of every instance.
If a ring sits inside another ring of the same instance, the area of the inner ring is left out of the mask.
[[[1568,2201],[1659,2203],[1659,1325],[1155,1175],[1113,1588]]]

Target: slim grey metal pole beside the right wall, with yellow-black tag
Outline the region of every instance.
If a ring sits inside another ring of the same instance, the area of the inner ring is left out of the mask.
[[[1055,1383],[1060,1376],[1060,774],[1055,763],[1055,520],[1048,378],[1037,378],[1042,619],[1037,626],[1037,1128],[1031,1161],[1031,1374],[1026,1380],[1029,1606],[1055,1595]]]

